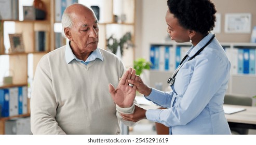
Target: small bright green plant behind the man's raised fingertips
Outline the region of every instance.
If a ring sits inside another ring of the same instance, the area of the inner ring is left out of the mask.
[[[141,75],[144,69],[149,70],[151,66],[151,62],[147,62],[143,58],[139,58],[133,61],[133,68],[136,70],[136,75]]]

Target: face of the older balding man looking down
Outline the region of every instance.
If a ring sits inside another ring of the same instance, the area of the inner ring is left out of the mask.
[[[94,51],[99,42],[98,20],[91,11],[72,13],[73,25],[70,28],[72,49],[80,53]]]

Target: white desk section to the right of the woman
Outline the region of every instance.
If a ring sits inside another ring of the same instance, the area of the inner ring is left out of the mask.
[[[246,108],[245,111],[237,112],[234,114],[225,114],[225,117],[230,127],[256,129],[256,107],[227,104],[224,104],[224,106],[234,108]]]

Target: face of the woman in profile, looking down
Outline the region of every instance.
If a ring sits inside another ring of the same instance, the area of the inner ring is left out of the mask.
[[[174,17],[169,9],[166,12],[165,20],[168,25],[167,33],[172,40],[176,42],[187,42],[190,40],[189,30],[180,25],[179,20]]]

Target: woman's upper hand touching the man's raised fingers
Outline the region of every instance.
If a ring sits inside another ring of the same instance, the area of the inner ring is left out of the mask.
[[[151,88],[142,81],[140,76],[136,75],[134,77],[135,79],[128,79],[128,82],[135,85],[139,93],[149,96],[152,91]]]

